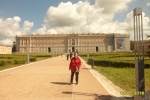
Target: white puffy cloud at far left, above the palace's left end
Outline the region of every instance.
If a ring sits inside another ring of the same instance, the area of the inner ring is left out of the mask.
[[[20,22],[21,18],[18,16],[7,19],[0,18],[0,43],[12,44],[12,42],[15,41],[16,35],[26,34],[34,25],[33,22],[25,21],[23,27],[21,27]]]

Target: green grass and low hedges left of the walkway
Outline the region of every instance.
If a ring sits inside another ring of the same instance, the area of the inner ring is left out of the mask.
[[[51,57],[50,54],[30,54],[30,62],[40,61],[50,57]],[[27,58],[28,58],[27,54],[1,54],[0,70],[26,64],[28,63]]]

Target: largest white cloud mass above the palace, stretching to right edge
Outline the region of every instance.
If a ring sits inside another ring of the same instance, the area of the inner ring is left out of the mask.
[[[108,2],[109,1],[109,2]],[[60,3],[50,7],[45,15],[43,28],[34,34],[56,33],[129,33],[133,39],[133,11],[127,14],[124,22],[114,22],[117,12],[127,9],[131,0],[96,0],[94,5],[79,1]],[[149,31],[150,19],[143,13],[144,35]]]

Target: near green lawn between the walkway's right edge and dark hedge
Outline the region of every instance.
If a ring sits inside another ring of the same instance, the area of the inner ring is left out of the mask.
[[[135,91],[135,69],[94,66],[114,84],[126,91]],[[150,90],[150,69],[145,69],[145,89]]]

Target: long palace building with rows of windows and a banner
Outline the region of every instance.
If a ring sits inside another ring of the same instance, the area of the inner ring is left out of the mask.
[[[129,34],[38,34],[16,36],[19,53],[130,51]]]

